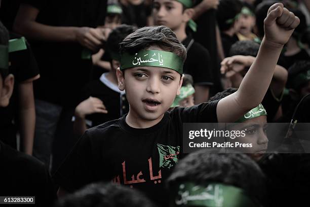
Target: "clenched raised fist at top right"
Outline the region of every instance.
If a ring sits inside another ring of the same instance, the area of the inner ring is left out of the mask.
[[[273,46],[282,47],[291,37],[300,20],[294,13],[276,3],[268,10],[264,20],[265,40]]]

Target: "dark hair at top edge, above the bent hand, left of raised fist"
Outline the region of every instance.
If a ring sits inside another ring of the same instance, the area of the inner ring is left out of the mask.
[[[241,12],[241,9],[242,3],[239,0],[221,0],[216,11],[219,29],[226,31],[234,26],[234,22],[227,23],[226,21],[228,19],[234,19]]]

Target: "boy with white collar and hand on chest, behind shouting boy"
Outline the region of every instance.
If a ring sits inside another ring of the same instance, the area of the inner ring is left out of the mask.
[[[128,113],[129,106],[125,91],[118,88],[116,76],[120,66],[119,44],[135,30],[134,26],[123,24],[113,29],[106,42],[106,50],[111,54],[110,65],[112,70],[103,73],[98,80],[86,85],[82,92],[82,102],[75,108],[74,132],[83,135],[86,118],[91,122],[91,127],[118,119]]]

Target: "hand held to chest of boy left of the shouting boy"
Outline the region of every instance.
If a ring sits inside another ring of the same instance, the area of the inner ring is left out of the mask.
[[[96,97],[90,96],[75,108],[75,116],[80,118],[85,118],[86,115],[94,113],[108,113],[105,106],[103,105],[103,102]]]

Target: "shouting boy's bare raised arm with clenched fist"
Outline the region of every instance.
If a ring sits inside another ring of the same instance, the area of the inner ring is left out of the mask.
[[[298,17],[283,4],[277,3],[269,8],[258,55],[238,91],[218,102],[218,122],[235,122],[259,105],[270,85],[281,50],[298,24]]]

